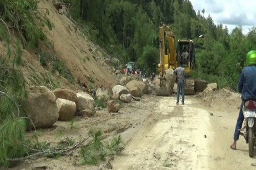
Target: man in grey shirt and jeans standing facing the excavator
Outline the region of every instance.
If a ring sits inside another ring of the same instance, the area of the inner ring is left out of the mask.
[[[184,105],[184,98],[185,98],[185,68],[182,67],[183,61],[180,61],[180,67],[174,70],[174,74],[177,75],[177,103],[179,105],[180,102],[180,91],[182,93],[182,105]]]

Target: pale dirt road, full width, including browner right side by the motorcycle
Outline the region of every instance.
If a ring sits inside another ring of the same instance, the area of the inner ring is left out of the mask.
[[[237,112],[214,112],[194,97],[188,97],[185,106],[176,106],[174,97],[158,102],[154,115],[114,160],[115,170],[256,169],[242,138],[238,150],[229,149]]]

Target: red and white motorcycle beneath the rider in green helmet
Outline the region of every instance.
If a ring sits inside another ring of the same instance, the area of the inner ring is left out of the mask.
[[[249,156],[254,157],[256,146],[256,99],[246,100],[243,106],[244,122],[240,133],[249,145]]]

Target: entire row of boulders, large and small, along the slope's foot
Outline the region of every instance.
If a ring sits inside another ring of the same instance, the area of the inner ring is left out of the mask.
[[[143,94],[150,92],[149,85],[142,79],[127,79],[130,81],[125,82],[125,86],[115,85],[111,92],[97,89],[95,97],[106,103],[109,113],[118,112],[121,108],[120,102],[140,101]],[[69,121],[74,116],[93,117],[95,108],[95,99],[85,92],[75,92],[69,88],[51,91],[40,86],[28,89],[25,112],[32,122],[30,128],[50,128],[57,120]]]

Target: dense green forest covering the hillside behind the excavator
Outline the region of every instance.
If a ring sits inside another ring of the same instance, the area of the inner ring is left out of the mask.
[[[64,0],[70,17],[82,23],[91,40],[123,63],[134,61],[147,74],[159,60],[159,23],[178,39],[192,39],[196,47],[195,78],[236,90],[246,54],[256,47],[255,28],[244,35],[237,26],[229,33],[189,0]],[[204,35],[204,39],[199,38]]]

